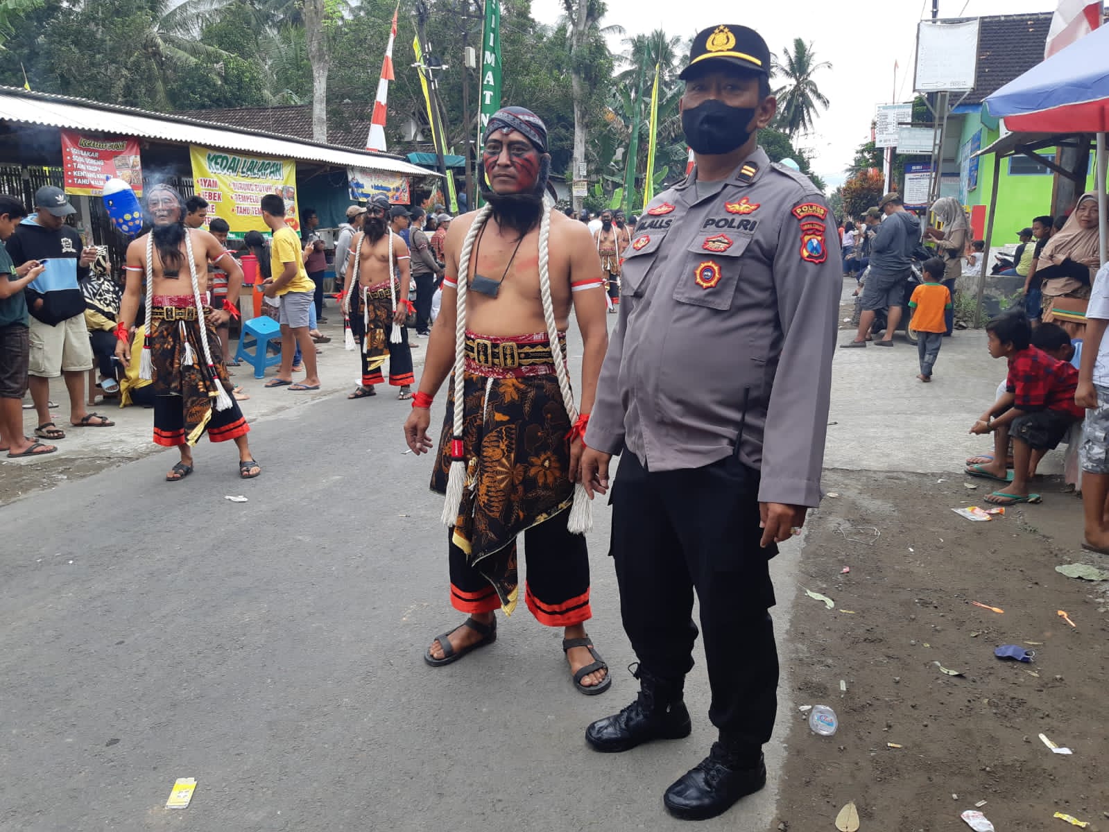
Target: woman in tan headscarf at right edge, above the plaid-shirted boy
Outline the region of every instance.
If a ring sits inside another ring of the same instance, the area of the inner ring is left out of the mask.
[[[1064,319],[1070,319],[1067,317],[1067,312],[1052,312],[1059,298],[1072,297],[1082,301],[1089,298],[1093,275],[1101,266],[1098,248],[1100,222],[1103,220],[1098,216],[1097,194],[1092,191],[1083,193],[1062,230],[1056,232],[1040,252],[1039,262],[1036,264],[1036,276],[1044,275],[1046,278],[1042,301],[1045,323],[1050,323],[1059,314],[1062,314]],[[1086,271],[1078,266],[1085,266]]]

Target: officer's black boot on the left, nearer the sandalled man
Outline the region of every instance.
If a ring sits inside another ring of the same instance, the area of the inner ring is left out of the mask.
[[[642,668],[632,676],[639,679],[635,701],[586,729],[586,741],[597,751],[628,751],[651,740],[689,737],[693,730],[681,681],[664,681]]]

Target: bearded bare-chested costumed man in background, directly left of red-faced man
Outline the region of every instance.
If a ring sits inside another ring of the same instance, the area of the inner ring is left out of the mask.
[[[343,314],[362,352],[362,384],[347,398],[376,396],[375,384],[385,384],[381,367],[389,359],[389,384],[397,398],[413,397],[413,353],[405,318],[414,311],[408,301],[409,254],[400,235],[389,227],[389,199],[374,196],[350,244],[353,275],[343,295]],[[398,280],[399,276],[399,280]],[[354,341],[347,343],[354,348]]]

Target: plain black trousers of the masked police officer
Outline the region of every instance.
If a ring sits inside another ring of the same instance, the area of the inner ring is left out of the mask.
[[[648,471],[625,451],[612,486],[620,612],[640,666],[681,688],[693,667],[693,592],[701,608],[721,739],[756,757],[770,741],[777,650],[770,558],[759,546],[759,473],[734,456],[703,468]]]

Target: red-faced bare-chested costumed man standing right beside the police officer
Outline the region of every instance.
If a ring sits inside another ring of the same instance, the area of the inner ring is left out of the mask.
[[[574,480],[608,344],[600,262],[586,226],[543,202],[550,155],[535,113],[498,111],[482,165],[487,204],[447,232],[442,307],[405,423],[408,446],[429,450],[431,399],[454,371],[431,490],[446,495],[442,521],[452,527],[450,602],[469,618],[424,658],[441,667],[496,640],[495,610],[509,615],[518,601],[523,532],[523,600],[540,623],[564,628],[573,683],[596,694],[611,679],[583,626],[592,616],[580,534],[589,501]],[[571,306],[584,344],[577,403],[566,354]]]

